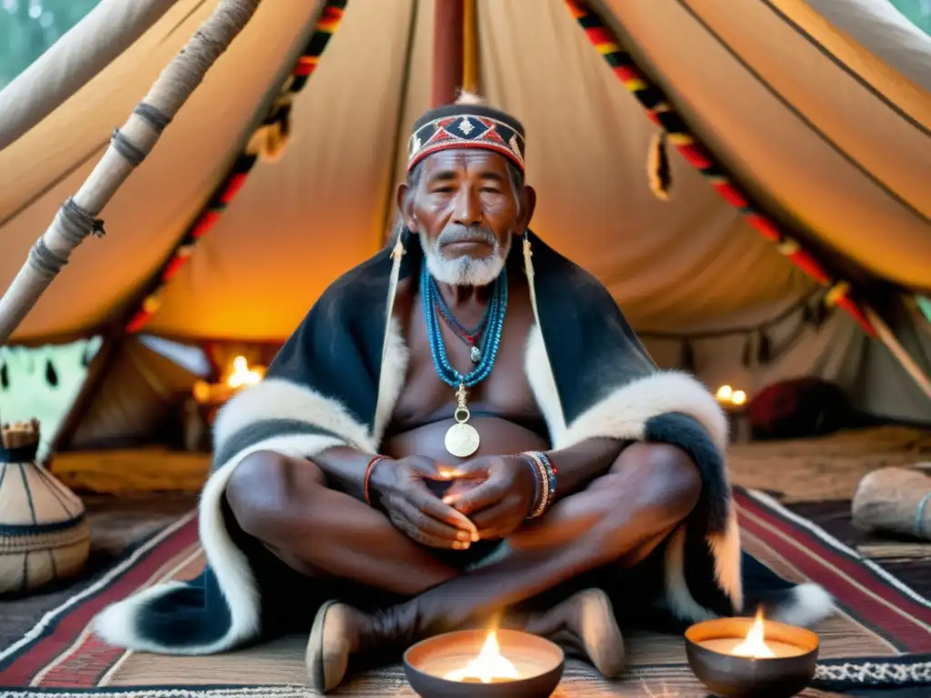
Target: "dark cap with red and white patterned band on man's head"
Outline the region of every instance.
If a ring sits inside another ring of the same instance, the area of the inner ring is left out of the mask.
[[[480,104],[449,104],[417,119],[408,141],[407,169],[410,172],[429,154],[453,148],[490,150],[524,170],[523,125],[510,114]]]

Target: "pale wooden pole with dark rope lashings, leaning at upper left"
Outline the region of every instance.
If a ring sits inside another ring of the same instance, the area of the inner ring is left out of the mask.
[[[103,234],[101,210],[142,164],[162,131],[210,66],[220,58],[255,14],[260,0],[222,0],[182,51],[159,75],[155,85],[114,132],[110,147],[73,198],[68,199],[30,250],[20,273],[0,299],[0,342],[7,342],[33,309],[71,253],[91,234]]]

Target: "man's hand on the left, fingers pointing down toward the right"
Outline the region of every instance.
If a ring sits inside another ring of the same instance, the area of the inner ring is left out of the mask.
[[[476,526],[431,492],[426,480],[449,482],[450,473],[425,456],[385,459],[375,465],[370,488],[391,522],[417,543],[465,550],[479,540]]]

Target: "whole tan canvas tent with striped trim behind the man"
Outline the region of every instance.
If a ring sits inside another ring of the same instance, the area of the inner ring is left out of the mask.
[[[660,365],[929,421],[931,36],[885,0],[269,0],[11,337],[104,337],[73,445],[157,422],[196,373],[166,340],[274,348],[385,246],[444,5],[527,128],[534,231]],[[0,93],[0,289],[217,7],[102,0]]]

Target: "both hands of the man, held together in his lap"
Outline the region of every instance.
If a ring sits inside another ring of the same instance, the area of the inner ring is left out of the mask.
[[[537,485],[521,456],[481,456],[455,466],[408,456],[378,463],[371,488],[374,503],[412,540],[465,550],[518,530],[531,512]]]

